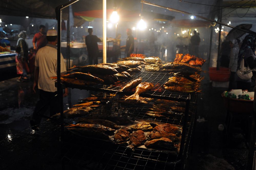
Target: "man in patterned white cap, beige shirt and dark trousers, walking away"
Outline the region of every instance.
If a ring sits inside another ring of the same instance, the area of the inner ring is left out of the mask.
[[[30,124],[36,129],[37,124],[41,121],[41,116],[37,115],[40,108],[48,103],[50,106],[50,116],[55,115],[59,111],[58,99],[51,100],[57,94],[55,83],[49,77],[57,76],[57,31],[54,29],[48,30],[46,34],[48,43],[45,47],[40,48],[36,53],[35,59],[35,79],[33,91],[36,92],[36,86],[39,89],[39,101],[36,104],[32,120]],[[66,71],[65,63],[62,54],[60,54],[60,72]],[[63,96],[68,95],[68,89],[65,89]],[[51,100],[51,101],[50,101]],[[49,103],[50,101],[50,103]],[[44,107],[40,113],[44,114],[48,107]]]

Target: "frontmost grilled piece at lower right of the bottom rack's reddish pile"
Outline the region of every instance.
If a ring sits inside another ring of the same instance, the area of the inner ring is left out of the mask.
[[[174,143],[168,138],[154,139],[145,143],[147,148],[175,150]]]

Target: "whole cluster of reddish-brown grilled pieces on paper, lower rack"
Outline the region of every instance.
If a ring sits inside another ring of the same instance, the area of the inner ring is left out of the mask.
[[[150,131],[150,133],[145,135],[145,131]],[[138,123],[120,129],[115,134],[114,141],[127,145],[130,149],[144,144],[147,148],[152,149],[176,150],[180,135],[181,129],[168,123],[161,125]]]

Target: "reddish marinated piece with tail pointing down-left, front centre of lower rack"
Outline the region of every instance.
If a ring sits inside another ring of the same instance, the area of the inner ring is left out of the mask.
[[[137,130],[129,135],[130,141],[128,147],[134,149],[134,146],[141,145],[146,141],[146,136],[142,130]]]

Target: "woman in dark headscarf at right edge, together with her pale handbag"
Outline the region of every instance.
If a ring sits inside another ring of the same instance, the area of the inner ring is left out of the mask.
[[[255,38],[251,34],[245,36],[238,53],[237,88],[249,92],[254,92],[256,78]]]

